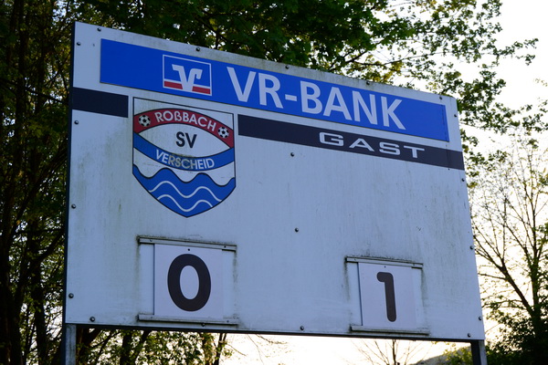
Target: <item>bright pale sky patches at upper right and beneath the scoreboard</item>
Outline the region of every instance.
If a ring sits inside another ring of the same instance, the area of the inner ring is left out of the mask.
[[[540,85],[535,79],[548,82],[548,31],[546,14],[548,2],[545,0],[502,0],[501,42],[539,38],[536,55],[532,64],[523,65],[522,61],[504,61],[499,75],[507,82],[507,88],[501,95],[506,105],[519,108],[527,103],[536,103],[539,99],[548,99],[548,87]],[[360,339],[310,338],[267,336],[279,341],[269,344],[265,339],[248,335],[229,335],[234,354],[224,360],[224,365],[262,364],[359,364],[366,363],[359,348],[364,348]],[[433,345],[430,342],[416,344],[420,357],[435,356],[446,349],[444,344]],[[419,359],[418,359],[419,360]]]

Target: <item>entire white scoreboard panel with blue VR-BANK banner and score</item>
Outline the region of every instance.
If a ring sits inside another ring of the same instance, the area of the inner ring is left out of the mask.
[[[78,23],[66,323],[483,339],[454,99]]]

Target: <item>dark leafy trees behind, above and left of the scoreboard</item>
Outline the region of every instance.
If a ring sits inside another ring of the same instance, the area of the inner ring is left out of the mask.
[[[490,116],[503,85],[491,68],[499,57],[517,55],[532,44],[495,46],[500,27],[492,18],[499,8],[498,0],[481,6],[473,0],[2,2],[0,363],[58,362],[72,22],[420,85],[452,93],[462,101],[465,121],[484,120],[490,126],[491,120],[502,120]],[[435,55],[443,61],[434,61]],[[449,62],[480,62],[486,55],[492,60],[471,81]],[[79,328],[80,354],[97,358],[121,341],[126,345],[120,359],[139,361],[137,349],[170,335],[165,336]]]

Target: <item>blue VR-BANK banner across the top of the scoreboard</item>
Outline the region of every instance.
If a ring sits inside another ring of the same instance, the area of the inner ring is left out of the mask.
[[[108,39],[100,82],[448,141],[442,104]]]

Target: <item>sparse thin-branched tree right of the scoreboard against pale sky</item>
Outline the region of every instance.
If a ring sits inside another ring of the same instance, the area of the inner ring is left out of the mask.
[[[548,361],[548,149],[528,130],[511,147],[476,155],[470,181],[474,238],[490,318],[501,324],[490,357]],[[540,135],[543,137],[543,134]]]

